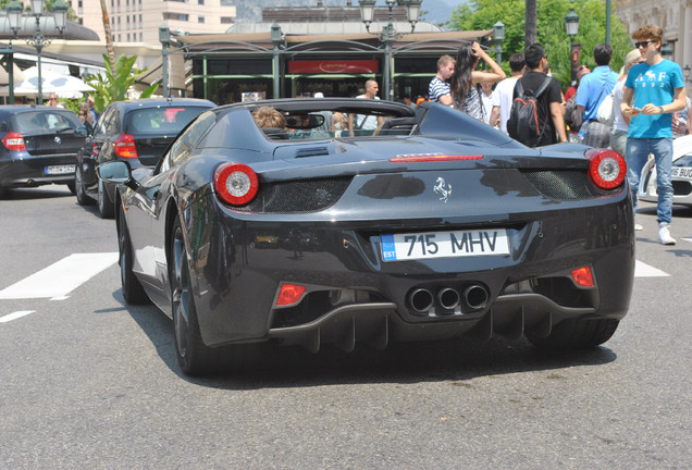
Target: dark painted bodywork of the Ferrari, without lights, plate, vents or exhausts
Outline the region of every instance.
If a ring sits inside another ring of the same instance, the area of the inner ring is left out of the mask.
[[[270,103],[282,108],[281,101]],[[214,112],[232,116],[247,111],[231,106]],[[408,115],[403,109],[397,113]],[[343,342],[349,330],[351,339],[372,338],[384,345],[390,339],[464,333],[516,336],[524,330],[549,332],[565,319],[626,316],[634,269],[627,182],[616,189],[593,190],[590,197],[548,197],[526,172],[585,175],[585,147],[528,149],[441,106],[419,110],[419,118],[420,134],[408,137],[284,144],[268,140],[249,115],[238,114],[233,125],[208,132],[178,166],[162,171],[160,164],[150,174],[139,172],[139,183],[133,185],[137,188],[122,189],[127,226],[119,230],[129,231],[139,252],[135,272],[148,295],[170,314],[166,237],[180,218],[195,275],[199,327],[209,346],[275,338],[313,350],[320,343],[349,349],[351,341]],[[301,157],[301,149],[316,147],[324,148],[324,154]],[[462,162],[390,161],[412,153],[483,157]],[[323,210],[246,212],[221,202],[210,184],[213,169],[228,160],[250,164],[264,185],[294,178],[351,181]],[[446,202],[433,191],[440,176],[454,188]],[[469,227],[507,228],[510,255],[382,261],[382,234]],[[294,256],[291,239],[296,230],[307,234],[300,237],[300,248],[309,257]],[[574,298],[551,297],[552,283],[569,283],[570,270],[582,265],[592,269],[594,287],[568,286]],[[522,290],[521,283],[529,281],[539,287]],[[275,306],[284,282],[307,285],[310,294],[367,290],[376,300],[322,306],[314,318],[298,312],[302,317],[291,325],[292,319],[281,319],[294,306]],[[412,312],[406,300],[417,286],[470,285],[489,293],[487,305],[478,311],[427,317]]]

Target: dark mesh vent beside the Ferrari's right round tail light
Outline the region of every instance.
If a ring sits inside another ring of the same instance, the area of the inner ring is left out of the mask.
[[[531,185],[543,196],[557,200],[592,199],[620,193],[598,189],[584,170],[521,170]]]

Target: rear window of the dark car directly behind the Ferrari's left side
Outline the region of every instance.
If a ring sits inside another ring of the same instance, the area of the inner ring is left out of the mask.
[[[125,119],[125,134],[177,134],[209,108],[170,107],[132,111]]]

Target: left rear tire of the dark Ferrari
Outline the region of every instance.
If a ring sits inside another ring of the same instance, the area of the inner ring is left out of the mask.
[[[218,366],[219,354],[205,345],[197,321],[189,262],[183,228],[176,218],[169,237],[169,283],[177,361],[183,372],[199,375]]]

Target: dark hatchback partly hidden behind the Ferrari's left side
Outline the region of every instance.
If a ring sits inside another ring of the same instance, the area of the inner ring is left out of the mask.
[[[155,166],[181,129],[214,107],[211,101],[194,98],[152,98],[109,104],[77,154],[74,173],[77,203],[86,206],[96,200],[101,218],[112,218],[115,185],[100,181],[96,166],[118,160],[127,161],[132,169]]]

